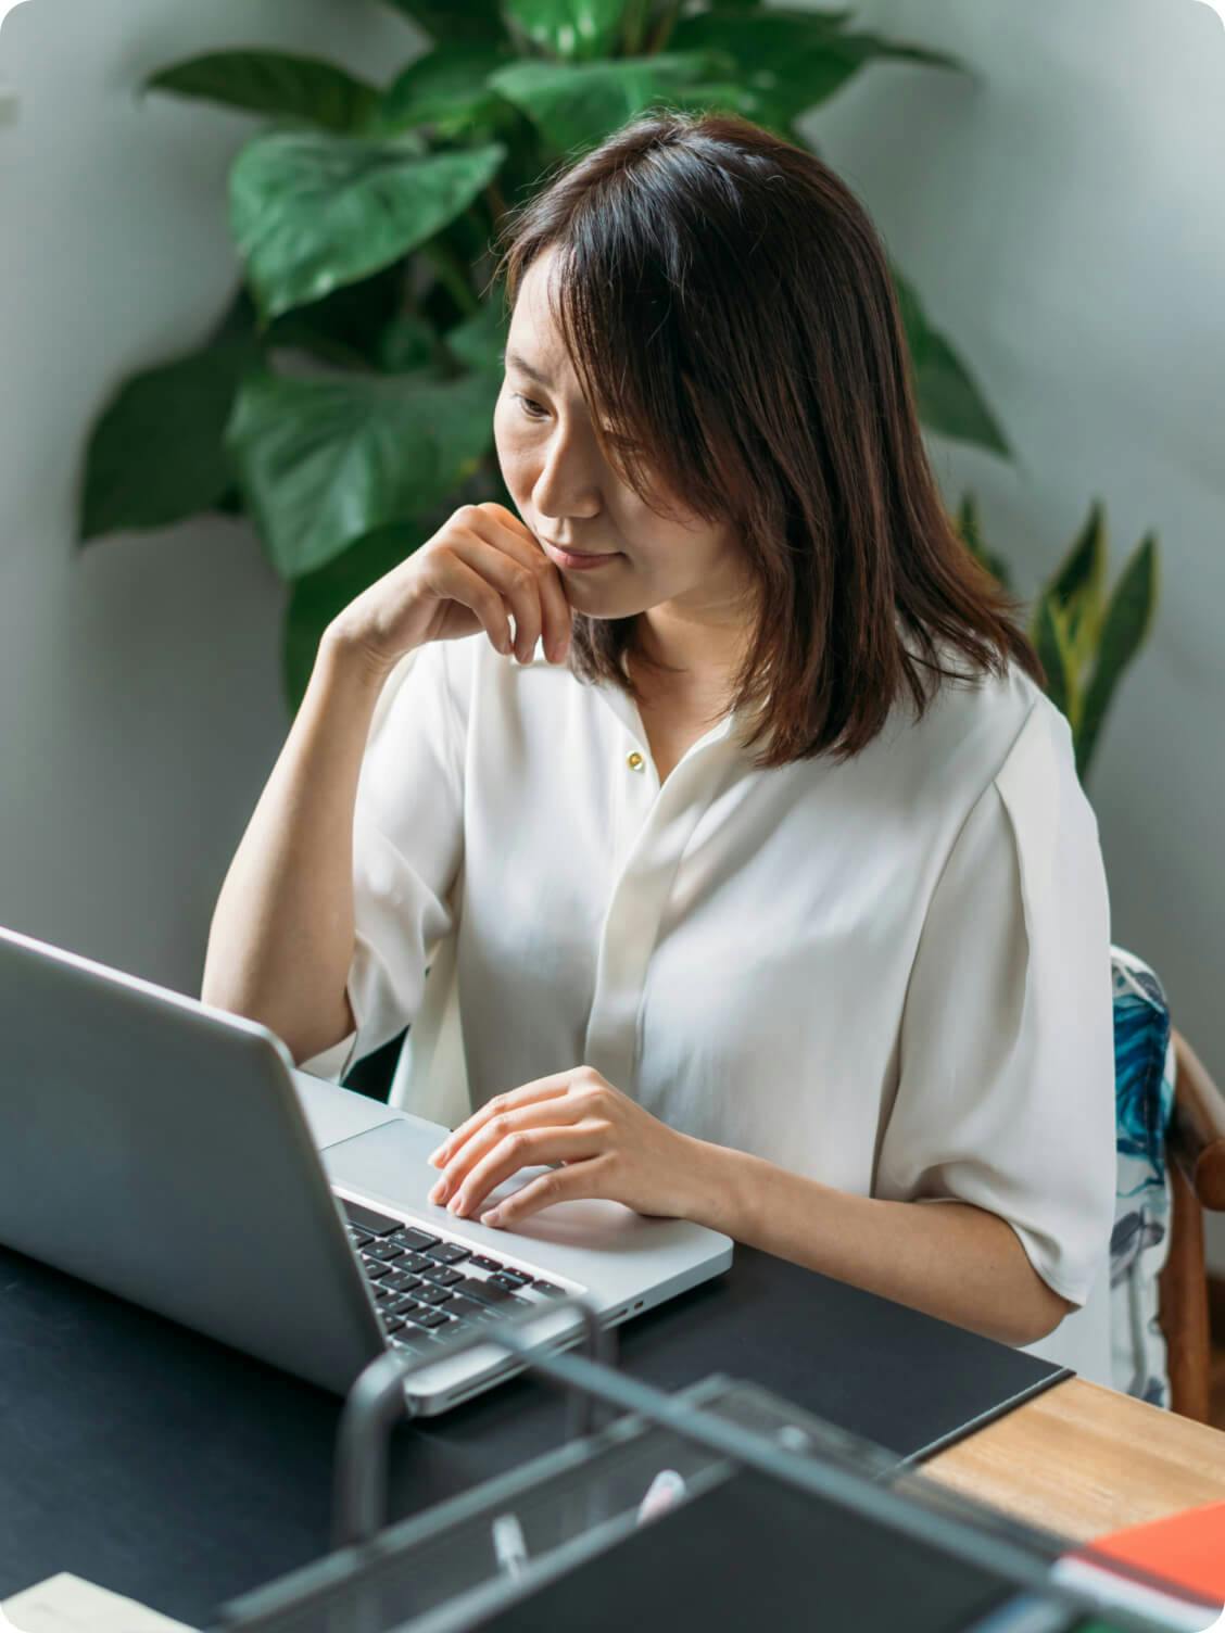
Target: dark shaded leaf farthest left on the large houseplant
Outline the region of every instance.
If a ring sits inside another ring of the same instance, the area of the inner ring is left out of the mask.
[[[258,341],[225,331],[199,351],[132,374],[90,434],[80,542],[219,508],[234,488],[225,421],[243,374],[260,366]]]

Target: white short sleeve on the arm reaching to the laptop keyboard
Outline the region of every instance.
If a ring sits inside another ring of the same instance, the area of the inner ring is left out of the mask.
[[[931,897],[874,1194],[996,1213],[1083,1305],[1114,1189],[1106,872],[1071,732],[1042,699]]]

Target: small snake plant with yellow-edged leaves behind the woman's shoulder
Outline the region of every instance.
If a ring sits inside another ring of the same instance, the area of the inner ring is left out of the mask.
[[[957,527],[970,554],[1011,590],[1006,562],[983,544],[973,493],[962,496]],[[1047,671],[1047,696],[1071,727],[1081,784],[1119,679],[1153,625],[1156,534],[1147,532],[1137,544],[1109,594],[1106,560],[1106,508],[1094,500],[1071,549],[1034,598],[1027,630]]]

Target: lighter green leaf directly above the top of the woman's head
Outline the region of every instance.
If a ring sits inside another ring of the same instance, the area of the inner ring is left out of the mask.
[[[657,101],[689,106],[693,96],[710,96],[748,113],[756,108],[751,93],[722,83],[733,69],[719,52],[660,52],[616,62],[516,62],[492,73],[488,83],[531,119],[554,154],[572,154]],[[717,87],[707,83],[715,78]]]

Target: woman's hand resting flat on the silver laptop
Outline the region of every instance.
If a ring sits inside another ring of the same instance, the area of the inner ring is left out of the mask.
[[[495,1094],[462,1122],[430,1156],[443,1169],[430,1200],[462,1218],[521,1168],[562,1163],[482,1213],[480,1223],[516,1225],[575,1197],[689,1218],[701,1151],[702,1141],[652,1117],[591,1066],[573,1066]]]

